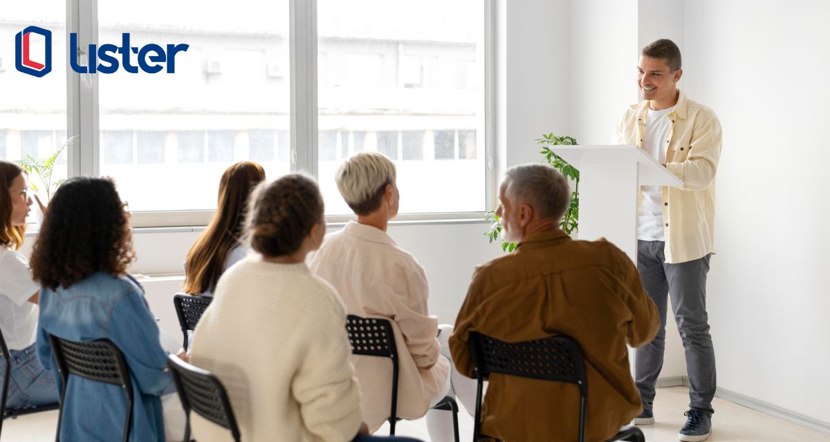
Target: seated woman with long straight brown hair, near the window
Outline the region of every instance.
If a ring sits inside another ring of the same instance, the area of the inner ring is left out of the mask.
[[[262,181],[265,170],[250,161],[236,163],[222,173],[216,214],[184,263],[185,293],[212,296],[222,273],[247,255],[241,238],[248,197]]]

